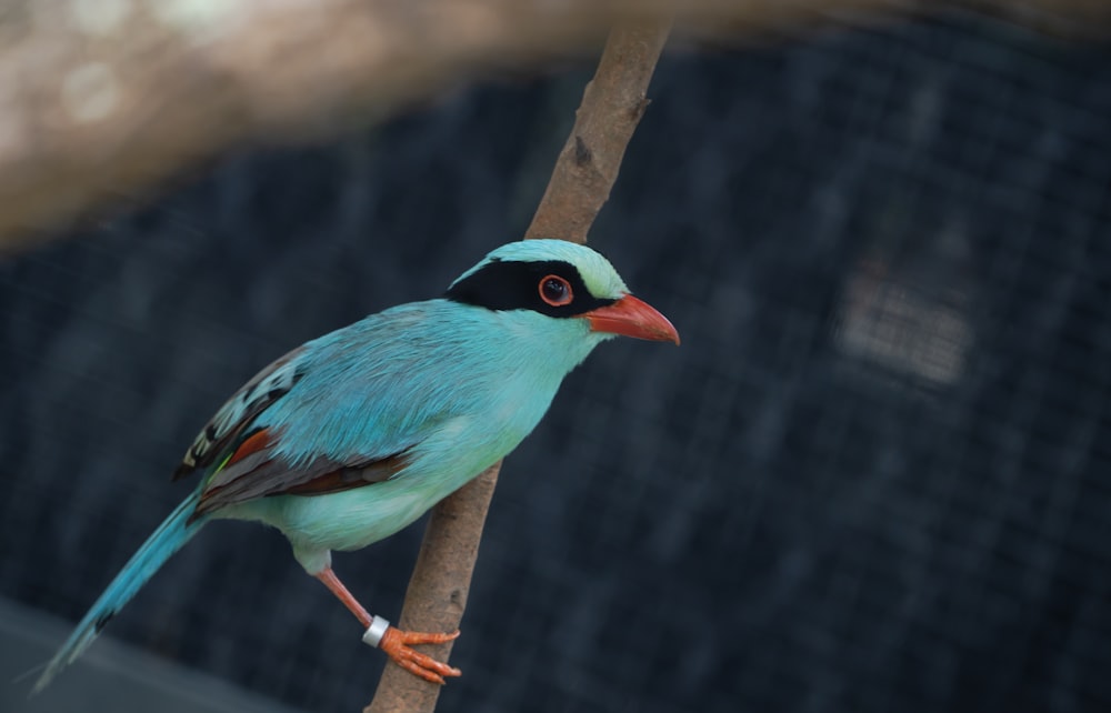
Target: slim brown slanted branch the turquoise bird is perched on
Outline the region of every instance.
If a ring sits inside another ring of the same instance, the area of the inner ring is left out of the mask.
[[[526,238],[587,241],[648,107],[648,84],[669,31],[668,21],[654,20],[621,24],[610,33]],[[496,463],[433,509],[406,593],[402,629],[453,631],[459,626],[500,468]],[[450,652],[450,643],[431,651],[442,661]],[[364,713],[430,713],[440,687],[387,664]]]

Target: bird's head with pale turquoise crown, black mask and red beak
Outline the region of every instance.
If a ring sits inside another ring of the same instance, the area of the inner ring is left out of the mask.
[[[605,258],[565,240],[504,244],[452,282],[446,297],[489,310],[583,320],[599,335],[679,343],[668,318],[630,294]]]

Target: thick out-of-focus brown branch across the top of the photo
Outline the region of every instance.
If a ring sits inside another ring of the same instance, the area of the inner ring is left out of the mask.
[[[687,31],[729,40],[944,4],[1051,29],[1111,18],[1093,0],[8,0],[0,250],[232,145],[311,139],[572,56],[621,19],[678,12]]]

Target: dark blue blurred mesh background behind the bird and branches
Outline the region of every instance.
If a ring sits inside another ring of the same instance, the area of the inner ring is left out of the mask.
[[[0,261],[0,707],[370,701],[383,656],[241,523],[42,696],[8,681],[258,368],[523,233],[591,72],[243,149]],[[508,459],[439,710],[1108,710],[1111,43],[963,12],[678,42],[650,96],[591,241],[683,344],[598,350]],[[421,534],[336,570],[396,617]]]

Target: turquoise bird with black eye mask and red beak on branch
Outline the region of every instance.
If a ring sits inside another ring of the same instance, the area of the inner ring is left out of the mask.
[[[278,529],[293,558],[424,680],[459,669],[413,649],[454,632],[371,615],[331,566],[412,523],[537,426],[563,378],[618,335],[679,344],[671,322],[582,244],[506,243],[439,298],[371,314],[262,369],[216,412],[174,470],[199,484],[139,548],[47,664],[32,694],[80,656],[212,520]]]

